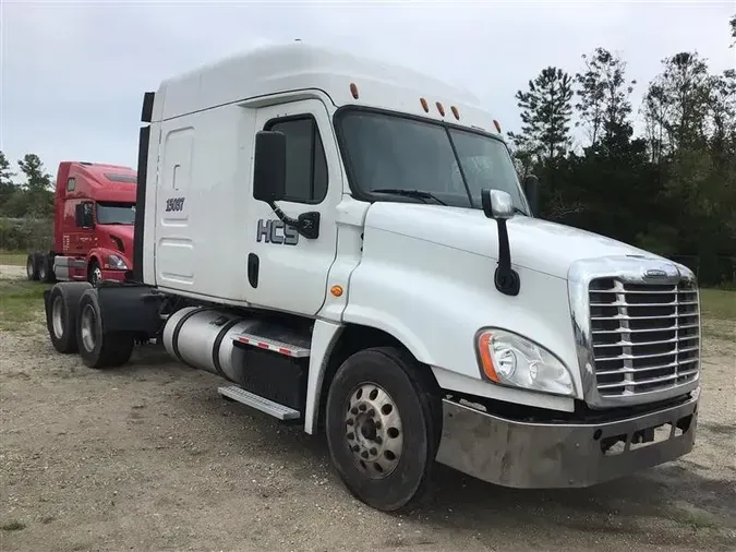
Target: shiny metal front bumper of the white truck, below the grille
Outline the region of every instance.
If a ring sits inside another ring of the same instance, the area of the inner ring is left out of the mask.
[[[527,423],[445,399],[436,460],[503,487],[590,487],[689,453],[698,398],[603,423]]]

